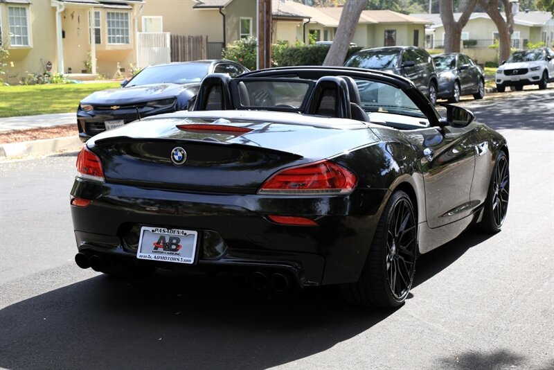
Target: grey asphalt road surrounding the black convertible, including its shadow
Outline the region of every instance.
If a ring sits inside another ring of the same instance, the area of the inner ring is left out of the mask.
[[[464,100],[510,149],[508,218],[418,261],[406,304],[73,264],[75,154],[0,163],[0,367],[553,369],[554,90]]]

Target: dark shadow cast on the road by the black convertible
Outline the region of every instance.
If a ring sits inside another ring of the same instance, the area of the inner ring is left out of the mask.
[[[416,285],[482,240],[469,234],[420,258]],[[258,292],[233,275],[96,276],[0,310],[0,367],[266,369],[330,349],[394,312],[349,306],[335,288]]]

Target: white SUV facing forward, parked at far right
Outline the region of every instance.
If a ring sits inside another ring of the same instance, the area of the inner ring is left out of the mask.
[[[524,85],[539,85],[546,89],[554,81],[554,51],[550,48],[516,51],[497,69],[497,90],[504,92],[506,86],[521,90]]]

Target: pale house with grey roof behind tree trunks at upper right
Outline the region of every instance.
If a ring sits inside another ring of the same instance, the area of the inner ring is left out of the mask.
[[[544,42],[552,45],[554,42],[554,17],[550,12],[514,11],[514,32],[512,47],[526,49],[530,43]],[[431,26],[425,30],[425,46],[427,49],[442,49],[445,39],[445,27],[439,14],[413,14],[414,17],[427,19]],[[461,13],[454,13],[454,19],[459,19]],[[464,53],[479,62],[497,59],[497,51],[488,46],[499,39],[497,26],[489,15],[484,12],[474,12],[462,30],[461,46]]]

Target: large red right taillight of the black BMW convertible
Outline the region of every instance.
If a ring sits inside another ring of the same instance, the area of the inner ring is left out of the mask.
[[[260,194],[327,195],[350,193],[357,176],[332,161],[285,168],[269,177]]]

